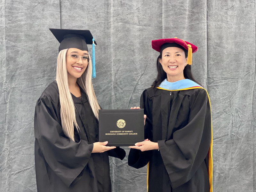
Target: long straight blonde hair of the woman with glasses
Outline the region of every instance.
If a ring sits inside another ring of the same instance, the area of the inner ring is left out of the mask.
[[[63,132],[71,140],[74,139],[74,126],[78,130],[78,124],[76,123],[75,105],[72,99],[71,93],[68,88],[68,72],[66,64],[66,54],[68,49],[61,50],[57,59],[57,73],[56,81],[60,94],[60,118]],[[90,55],[89,55],[90,57]],[[87,68],[80,78],[77,79],[77,83],[86,92],[92,111],[97,119],[99,119],[100,105],[96,99],[93,86],[92,86],[92,62],[91,59]]]

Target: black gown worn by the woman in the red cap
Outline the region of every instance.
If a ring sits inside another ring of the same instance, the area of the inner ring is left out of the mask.
[[[140,107],[147,115],[145,139],[159,150],[131,149],[128,164],[148,164],[148,192],[209,192],[208,151],[211,109],[204,89],[167,91],[148,88]]]

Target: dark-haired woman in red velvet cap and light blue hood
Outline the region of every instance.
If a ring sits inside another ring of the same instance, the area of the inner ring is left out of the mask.
[[[178,38],[152,41],[157,78],[143,91],[145,141],[128,164],[148,164],[148,192],[212,192],[212,120],[208,93],[191,73],[197,47]]]

